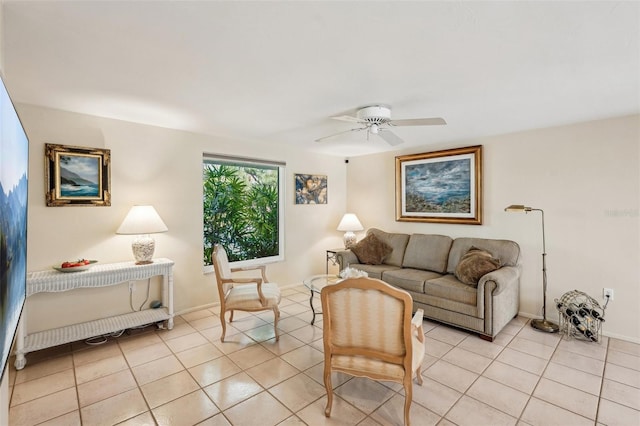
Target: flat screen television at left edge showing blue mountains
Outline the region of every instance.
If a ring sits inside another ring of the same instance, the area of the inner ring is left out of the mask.
[[[0,350],[4,374],[25,303],[29,141],[0,77]]]

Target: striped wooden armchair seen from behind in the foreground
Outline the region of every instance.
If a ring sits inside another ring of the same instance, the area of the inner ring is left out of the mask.
[[[350,278],[320,293],[324,315],[325,416],[333,402],[331,373],[401,383],[404,423],[410,424],[412,377],[422,385],[423,311],[411,317],[409,293],[372,278]]]

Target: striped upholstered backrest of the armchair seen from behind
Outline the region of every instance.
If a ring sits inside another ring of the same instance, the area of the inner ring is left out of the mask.
[[[350,278],[324,287],[321,299],[325,353],[361,355],[411,371],[409,293],[378,279]]]

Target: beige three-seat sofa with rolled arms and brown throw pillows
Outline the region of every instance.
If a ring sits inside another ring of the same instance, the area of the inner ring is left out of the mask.
[[[382,255],[374,261],[365,259],[364,262],[356,255],[363,251],[366,240],[374,240],[384,247]],[[469,281],[462,271],[468,264],[465,259],[476,252],[494,265],[487,268],[487,273],[483,268],[474,271],[478,275],[477,283],[473,277]],[[519,256],[520,247],[514,241],[452,239],[445,235],[409,235],[371,228],[352,249],[338,251],[336,261],[341,271],[361,270],[371,278],[408,291],[414,311],[422,309],[425,318],[476,332],[481,338],[493,341],[518,314]]]

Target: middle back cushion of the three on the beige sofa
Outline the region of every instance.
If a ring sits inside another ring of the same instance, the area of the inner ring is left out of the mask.
[[[446,235],[413,234],[409,238],[402,266],[444,274],[453,239]]]

